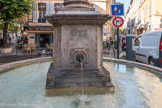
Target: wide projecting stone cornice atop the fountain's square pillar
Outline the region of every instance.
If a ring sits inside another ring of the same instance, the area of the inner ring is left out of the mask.
[[[103,25],[112,17],[107,14],[97,14],[92,12],[60,12],[53,16],[46,16],[48,22],[56,24],[74,24],[74,25]]]

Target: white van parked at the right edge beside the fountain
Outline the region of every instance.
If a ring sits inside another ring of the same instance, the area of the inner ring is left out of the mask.
[[[134,40],[136,60],[162,67],[162,31],[139,35]]]

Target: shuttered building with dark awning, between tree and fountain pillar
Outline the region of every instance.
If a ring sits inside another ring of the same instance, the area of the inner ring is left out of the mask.
[[[45,47],[53,43],[53,27],[45,15],[56,13],[62,6],[63,0],[34,0],[33,10],[28,16],[25,32],[28,34],[28,44]]]

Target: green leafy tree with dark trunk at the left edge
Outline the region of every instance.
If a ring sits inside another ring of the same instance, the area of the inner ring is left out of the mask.
[[[32,9],[32,0],[0,0],[0,24],[3,28],[3,47],[8,47],[8,25],[15,19],[26,16]]]

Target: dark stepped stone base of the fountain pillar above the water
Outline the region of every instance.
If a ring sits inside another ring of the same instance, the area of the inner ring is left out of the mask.
[[[98,70],[83,70],[82,83],[81,70],[59,70],[54,68],[51,63],[47,74],[46,90],[55,89],[55,92],[63,90],[63,88],[78,88],[79,90],[82,86],[84,88],[114,88],[110,73],[104,67]],[[111,91],[113,90],[111,89]]]

